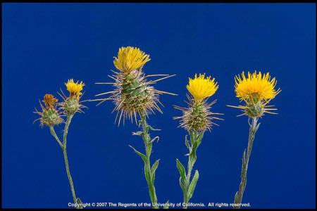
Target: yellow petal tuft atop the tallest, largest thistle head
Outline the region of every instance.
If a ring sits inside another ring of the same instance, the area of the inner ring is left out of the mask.
[[[150,58],[135,47],[121,47],[118,51],[118,58],[114,57],[113,64],[122,72],[130,73],[132,70],[141,68]]]

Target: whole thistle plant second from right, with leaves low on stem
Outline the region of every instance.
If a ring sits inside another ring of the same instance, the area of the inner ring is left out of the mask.
[[[213,124],[218,125],[213,120],[222,120],[214,116],[221,115],[220,113],[212,113],[210,111],[211,106],[216,103],[216,100],[207,103],[208,98],[213,96],[217,89],[218,84],[214,78],[211,79],[210,76],[205,78],[205,75],[201,74],[199,74],[199,77],[195,75],[194,79],[189,78],[189,84],[187,85],[187,90],[191,94],[191,96],[187,94],[189,102],[186,103],[188,107],[174,106],[174,108],[182,111],[182,116],[173,117],[173,119],[180,120],[180,127],[185,128],[189,134],[189,140],[185,136],[185,145],[189,150],[187,154],[187,172],[180,160],[176,159],[176,166],[180,172],[180,188],[182,188],[184,198],[184,209],[187,208],[187,203],[192,198],[199,178],[198,170],[195,171],[192,177],[194,163],[197,160],[197,148],[201,144],[206,130],[210,132]]]

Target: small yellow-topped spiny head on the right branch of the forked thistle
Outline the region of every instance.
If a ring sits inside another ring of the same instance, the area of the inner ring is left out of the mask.
[[[87,108],[80,104],[80,98],[82,96],[82,89],[85,86],[83,82],[74,82],[73,79],[68,79],[68,82],[65,83],[66,89],[69,92],[69,96],[63,94],[63,103],[61,103],[61,108],[67,115],[73,115],[76,112],[81,112],[81,108]]]

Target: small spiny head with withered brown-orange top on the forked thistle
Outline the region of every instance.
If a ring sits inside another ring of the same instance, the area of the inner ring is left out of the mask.
[[[40,125],[54,127],[56,124],[61,124],[63,122],[63,119],[61,118],[61,113],[59,113],[57,108],[58,99],[51,94],[45,94],[43,102],[45,106],[43,106],[42,103],[39,102],[39,105],[42,108],[42,112],[39,112],[35,108],[35,113],[40,116],[37,119],[41,122]],[[37,120],[35,120],[35,122]]]

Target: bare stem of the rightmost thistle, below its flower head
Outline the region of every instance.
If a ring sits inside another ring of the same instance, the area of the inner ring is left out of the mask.
[[[258,118],[252,117],[252,122],[249,129],[249,141],[248,141],[248,148],[247,148],[247,155],[245,155],[245,151],[243,153],[242,158],[242,170],[241,170],[241,182],[239,186],[239,191],[235,193],[235,204],[240,204],[242,202],[242,197],[244,193],[245,186],[247,185],[247,170],[249,165],[249,158],[251,155],[252,145],[254,141],[254,137],[256,134],[256,130],[259,128],[259,124],[257,124]],[[236,209],[240,209],[240,205],[237,207],[234,207]]]

